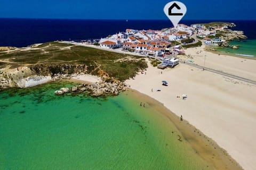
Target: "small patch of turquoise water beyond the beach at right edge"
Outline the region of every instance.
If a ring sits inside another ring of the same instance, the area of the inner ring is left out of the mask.
[[[247,57],[256,57],[256,39],[253,40],[244,40],[244,41],[231,41],[230,45],[238,45],[238,49],[217,47],[217,50],[227,54],[245,56]]]

